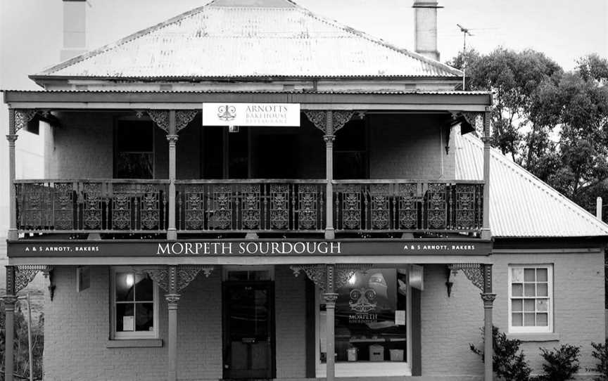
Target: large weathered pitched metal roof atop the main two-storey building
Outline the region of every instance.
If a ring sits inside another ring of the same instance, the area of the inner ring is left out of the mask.
[[[32,77],[459,76],[289,0],[215,0]]]

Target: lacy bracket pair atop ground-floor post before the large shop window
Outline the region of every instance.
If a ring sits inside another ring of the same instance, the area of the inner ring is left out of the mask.
[[[303,264],[290,266],[294,276],[299,276],[300,271],[304,271],[308,279],[312,280],[312,283],[315,283],[323,292],[338,290],[338,288],[346,285],[357,271],[365,273],[371,267],[371,264]]]

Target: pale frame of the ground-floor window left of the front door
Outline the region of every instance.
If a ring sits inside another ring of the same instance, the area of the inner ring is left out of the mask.
[[[113,266],[110,268],[110,340],[141,340],[141,339],[158,339],[158,304],[159,292],[158,285],[155,280],[152,280],[153,288],[153,325],[151,331],[133,331],[120,332],[116,330],[116,273],[137,273],[137,268],[130,266]]]

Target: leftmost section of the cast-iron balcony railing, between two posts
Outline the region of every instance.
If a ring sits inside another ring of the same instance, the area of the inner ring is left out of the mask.
[[[165,180],[17,180],[21,233],[164,233]]]

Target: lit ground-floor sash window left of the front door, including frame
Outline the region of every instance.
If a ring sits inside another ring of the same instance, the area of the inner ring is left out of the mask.
[[[158,291],[147,273],[113,269],[112,337],[151,339],[157,337]]]

